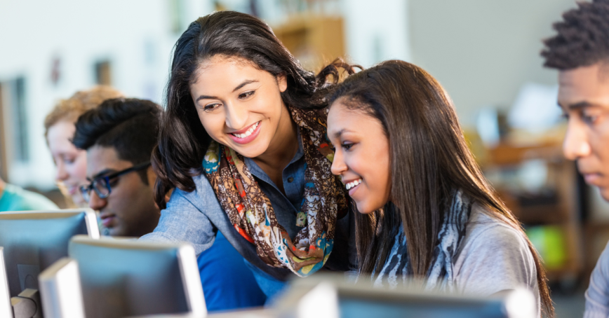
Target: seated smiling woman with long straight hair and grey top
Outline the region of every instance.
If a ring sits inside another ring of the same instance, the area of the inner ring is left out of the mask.
[[[349,76],[328,101],[332,172],[360,212],[360,275],[393,287],[421,277],[427,289],[482,295],[524,286],[554,315],[539,256],[483,177],[431,75],[382,62]]]

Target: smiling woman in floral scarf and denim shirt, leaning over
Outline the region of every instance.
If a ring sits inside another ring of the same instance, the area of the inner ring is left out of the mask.
[[[290,275],[354,268],[354,223],[330,172],[323,98],[340,66],[318,76],[302,69],[250,15],[222,11],[193,22],[175,45],[152,154],[163,211],[142,239],[187,241],[200,253],[219,230],[267,296]]]

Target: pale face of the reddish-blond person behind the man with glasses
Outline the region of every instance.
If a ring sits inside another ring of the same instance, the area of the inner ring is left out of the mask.
[[[81,207],[86,206],[86,202],[78,189],[79,186],[87,184],[87,153],[77,149],[70,141],[75,130],[74,123],[61,120],[48,128],[46,138],[57,166],[55,179],[65,186],[74,204]]]

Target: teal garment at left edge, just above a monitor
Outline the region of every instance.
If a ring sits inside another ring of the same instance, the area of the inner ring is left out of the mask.
[[[4,192],[0,194],[0,212],[56,209],[59,209],[57,205],[44,195],[23,190],[12,184],[6,184]]]

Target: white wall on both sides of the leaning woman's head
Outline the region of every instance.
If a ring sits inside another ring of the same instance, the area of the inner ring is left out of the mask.
[[[211,0],[0,0],[0,82],[25,76],[30,153],[27,163],[8,165],[9,181],[41,189],[54,186],[44,118],[58,99],[95,84],[95,62],[112,62],[112,84],[126,95],[162,102],[170,53],[180,35],[171,31],[170,8],[176,2],[182,8],[182,29],[213,10]],[[246,0],[223,2],[248,10]],[[269,24],[286,19],[278,0],[259,4]],[[389,58],[410,60],[407,4],[334,0],[330,9],[344,15],[347,54],[353,62],[369,67]],[[55,57],[61,62],[57,85],[51,82]]]

